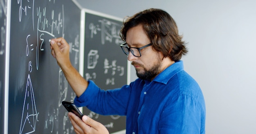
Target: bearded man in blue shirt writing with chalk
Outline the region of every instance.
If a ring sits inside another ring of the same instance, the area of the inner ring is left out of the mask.
[[[63,38],[52,39],[52,55],[77,95],[74,103],[102,115],[126,115],[127,134],[204,134],[204,97],[183,69],[180,59],[187,50],[173,18],[161,9],[146,9],[128,17],[120,35],[138,79],[108,91],[72,67]],[[76,133],[108,133],[89,117],[69,117]]]

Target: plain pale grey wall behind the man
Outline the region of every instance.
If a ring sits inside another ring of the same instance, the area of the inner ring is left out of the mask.
[[[255,0],[77,0],[117,17],[150,7],[166,10],[188,42],[185,70],[207,108],[207,134],[256,133]],[[132,67],[132,80],[136,79]]]

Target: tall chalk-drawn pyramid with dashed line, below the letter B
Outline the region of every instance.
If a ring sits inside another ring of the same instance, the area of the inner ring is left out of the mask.
[[[26,93],[20,122],[20,134],[30,134],[36,130],[38,112],[36,111],[35,96],[30,75],[27,77]]]

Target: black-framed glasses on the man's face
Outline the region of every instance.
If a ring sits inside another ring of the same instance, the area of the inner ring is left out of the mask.
[[[132,55],[136,56],[136,57],[140,57],[141,56],[141,53],[140,53],[140,50],[143,49],[143,48],[146,48],[148,46],[152,45],[151,43],[149,43],[148,45],[144,45],[143,47],[141,48],[129,48],[127,46],[127,43],[123,43],[120,45],[120,47],[122,48],[122,50],[124,51],[124,54],[126,55],[129,55],[129,52],[132,53]]]

